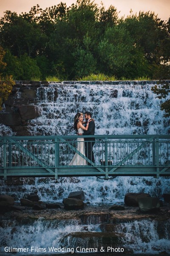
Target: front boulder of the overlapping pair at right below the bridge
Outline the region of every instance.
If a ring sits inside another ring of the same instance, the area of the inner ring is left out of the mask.
[[[160,201],[156,197],[141,197],[138,199],[141,212],[153,212],[160,208]]]

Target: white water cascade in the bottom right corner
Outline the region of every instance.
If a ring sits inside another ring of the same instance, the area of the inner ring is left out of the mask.
[[[158,253],[162,248],[170,253],[170,222],[163,222],[161,237],[157,232],[160,224],[156,221],[142,220],[120,224],[117,231],[124,232],[122,243],[135,253]]]

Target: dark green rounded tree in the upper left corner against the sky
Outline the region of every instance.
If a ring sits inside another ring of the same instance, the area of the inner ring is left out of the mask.
[[[6,11],[0,20],[0,43],[10,49],[14,56],[27,53],[35,57],[44,50],[47,36],[40,29],[39,24],[17,16],[15,12]]]

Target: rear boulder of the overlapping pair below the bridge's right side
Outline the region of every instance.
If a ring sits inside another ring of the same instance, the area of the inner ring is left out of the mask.
[[[139,198],[150,197],[147,193],[127,193],[125,194],[124,202],[127,206],[138,206]]]

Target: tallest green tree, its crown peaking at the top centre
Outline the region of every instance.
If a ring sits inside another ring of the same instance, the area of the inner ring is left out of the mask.
[[[48,56],[54,64],[65,70],[65,76],[74,79],[82,63],[83,58],[93,59],[93,45],[87,50],[84,44],[86,35],[91,38],[91,44],[95,44],[96,18],[98,16],[97,5],[90,0],[77,1],[72,5],[62,20],[57,20],[55,30],[48,42]],[[88,57],[86,56],[88,54]],[[89,62],[88,62],[89,63]],[[87,72],[87,65],[78,72]]]

